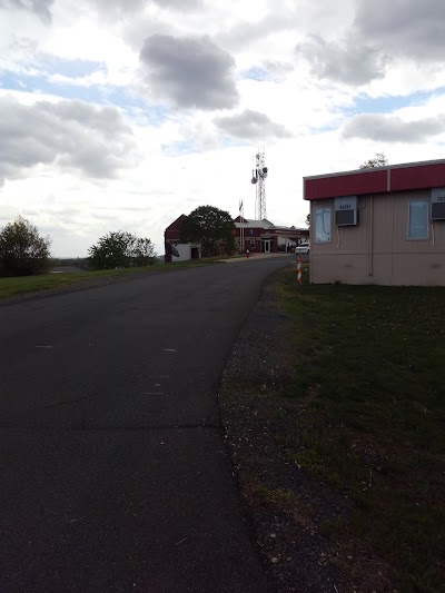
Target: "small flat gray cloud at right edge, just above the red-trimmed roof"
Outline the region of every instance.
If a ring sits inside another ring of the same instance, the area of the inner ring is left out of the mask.
[[[422,142],[445,131],[445,116],[418,121],[403,121],[396,116],[364,113],[345,126],[345,138],[365,138],[379,142]]]

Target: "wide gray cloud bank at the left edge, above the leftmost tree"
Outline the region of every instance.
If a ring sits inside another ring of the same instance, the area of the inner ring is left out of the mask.
[[[115,108],[96,108],[76,100],[20,105],[0,97],[0,184],[27,169],[56,164],[88,177],[113,177],[128,167],[131,129]]]

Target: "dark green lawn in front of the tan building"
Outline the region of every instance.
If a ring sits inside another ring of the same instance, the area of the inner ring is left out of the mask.
[[[400,591],[445,591],[445,289],[297,286],[283,273],[304,414],[288,459],[353,505]],[[337,534],[340,536],[342,534]]]

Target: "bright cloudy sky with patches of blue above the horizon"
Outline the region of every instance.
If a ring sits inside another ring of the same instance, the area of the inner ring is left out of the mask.
[[[301,178],[445,158],[444,0],[0,0],[0,226],[58,257],[210,204],[304,226]]]

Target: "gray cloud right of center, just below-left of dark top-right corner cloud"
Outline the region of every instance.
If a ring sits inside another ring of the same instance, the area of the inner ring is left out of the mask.
[[[308,60],[319,78],[359,86],[385,75],[387,57],[353,37],[337,43],[310,36],[297,46],[296,51]]]

